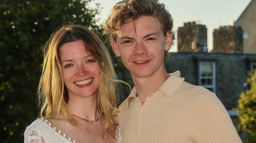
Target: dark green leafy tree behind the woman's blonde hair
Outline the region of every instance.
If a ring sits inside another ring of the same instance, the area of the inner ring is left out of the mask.
[[[0,2],[0,138],[24,142],[26,127],[38,114],[40,47],[55,29],[77,23],[98,30],[98,7],[91,0],[1,0]]]

